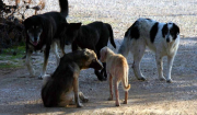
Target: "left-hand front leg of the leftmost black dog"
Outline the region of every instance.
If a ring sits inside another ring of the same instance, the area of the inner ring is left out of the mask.
[[[26,60],[25,60],[25,64],[26,64],[26,66],[27,66],[27,69],[28,69],[28,71],[30,71],[30,74],[32,76],[32,77],[34,77],[35,74],[34,74],[34,69],[32,68],[32,64],[31,64],[31,56],[32,56],[32,50],[26,50]]]

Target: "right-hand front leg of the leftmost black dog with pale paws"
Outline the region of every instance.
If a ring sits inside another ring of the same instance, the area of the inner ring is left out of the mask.
[[[44,77],[49,77],[49,74],[46,74],[46,67],[48,64],[49,49],[50,49],[50,47],[46,47],[46,49],[44,51],[44,65],[43,65],[42,74],[38,77],[39,79],[43,79]]]

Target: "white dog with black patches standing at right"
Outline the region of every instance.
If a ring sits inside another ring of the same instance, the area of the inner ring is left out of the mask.
[[[134,55],[134,72],[138,80],[146,80],[140,71],[140,61],[148,46],[155,53],[159,79],[163,77],[163,56],[167,56],[166,82],[172,82],[171,70],[179,44],[179,27],[175,23],[160,23],[150,19],[138,19],[125,33],[118,53]]]

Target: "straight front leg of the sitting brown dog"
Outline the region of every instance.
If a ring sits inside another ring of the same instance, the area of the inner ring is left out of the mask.
[[[78,77],[74,77],[73,80],[73,92],[74,92],[74,101],[78,107],[82,107],[83,104],[80,103],[79,101],[79,81],[78,81]]]

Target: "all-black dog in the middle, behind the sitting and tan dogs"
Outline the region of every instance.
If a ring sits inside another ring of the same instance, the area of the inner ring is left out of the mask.
[[[96,53],[97,58],[100,58],[100,50],[107,46],[108,39],[111,39],[111,44],[116,48],[112,26],[107,23],[93,22],[88,25],[82,25],[80,30],[72,32],[72,35],[74,35],[72,50],[77,50],[78,46],[81,48],[90,48]],[[106,80],[107,77],[105,66],[106,64],[103,62],[104,68],[101,73],[99,70],[94,71],[101,81]]]

